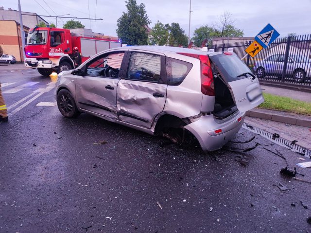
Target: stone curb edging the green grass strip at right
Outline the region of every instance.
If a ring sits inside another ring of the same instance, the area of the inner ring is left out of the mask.
[[[297,115],[296,117],[283,116],[281,114],[278,114],[278,112],[277,113],[266,113],[266,112],[262,112],[257,109],[247,111],[246,116],[256,117],[256,118],[269,120],[269,121],[282,122],[282,123],[287,123],[291,125],[311,127],[311,117],[310,119],[306,119],[306,117],[299,118],[299,115]]]

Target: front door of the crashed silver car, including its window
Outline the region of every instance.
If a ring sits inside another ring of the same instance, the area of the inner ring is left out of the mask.
[[[79,108],[117,119],[117,87],[124,54],[125,51],[101,54],[86,64],[85,75],[76,82]]]

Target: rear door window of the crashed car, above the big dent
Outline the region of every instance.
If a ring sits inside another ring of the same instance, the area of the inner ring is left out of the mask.
[[[126,79],[158,83],[161,73],[161,56],[133,52]]]

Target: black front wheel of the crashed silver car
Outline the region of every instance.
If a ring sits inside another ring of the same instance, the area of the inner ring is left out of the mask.
[[[60,113],[67,118],[74,118],[80,115],[80,111],[76,106],[76,102],[67,89],[60,90],[57,93],[57,107]]]

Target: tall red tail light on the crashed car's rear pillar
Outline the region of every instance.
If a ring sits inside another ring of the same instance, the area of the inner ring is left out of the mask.
[[[197,58],[201,62],[201,91],[204,95],[215,96],[214,78],[207,55],[177,53]]]

